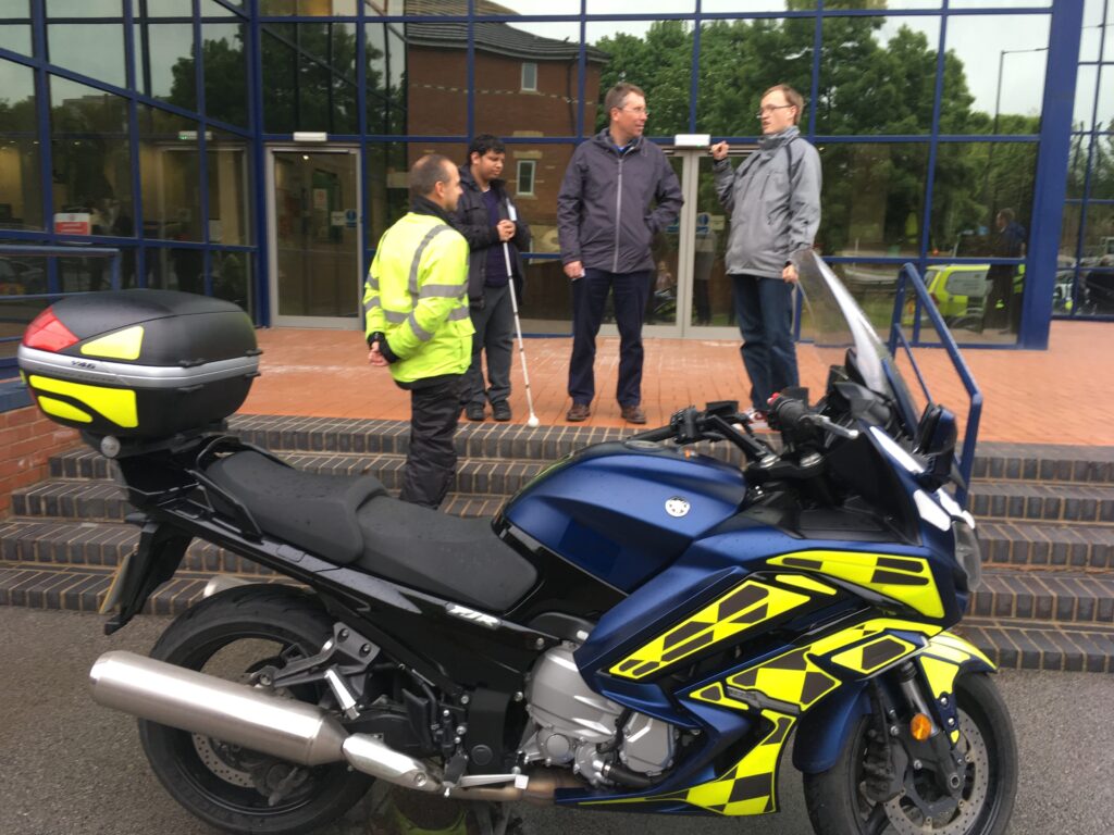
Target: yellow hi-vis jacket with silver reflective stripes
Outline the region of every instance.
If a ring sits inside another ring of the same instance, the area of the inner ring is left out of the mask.
[[[364,283],[367,335],[399,357],[400,383],[463,374],[472,354],[468,242],[439,217],[411,212],[379,240]]]

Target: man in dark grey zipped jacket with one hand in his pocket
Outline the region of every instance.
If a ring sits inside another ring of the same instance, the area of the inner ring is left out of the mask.
[[[616,400],[631,423],[642,409],[642,324],[649,296],[654,235],[676,219],[681,184],[665,154],[643,138],[645,94],[631,84],[607,91],[607,128],[573,154],[557,195],[557,227],[565,275],[573,281],[573,356],[566,419],[583,421],[596,395],[596,334],[608,292],[619,328]],[[656,205],[655,205],[656,202]]]

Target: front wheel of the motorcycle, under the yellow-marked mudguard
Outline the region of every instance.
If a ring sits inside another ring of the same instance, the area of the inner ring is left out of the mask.
[[[956,680],[959,750],[967,759],[962,799],[946,819],[926,818],[907,797],[874,803],[864,790],[867,731],[863,717],[848,735],[840,758],[821,774],[804,775],[804,799],[819,835],[1001,835],[1017,792],[1017,744],[1006,705],[984,674]],[[917,775],[907,779],[918,780]],[[924,778],[921,778],[924,779]]]

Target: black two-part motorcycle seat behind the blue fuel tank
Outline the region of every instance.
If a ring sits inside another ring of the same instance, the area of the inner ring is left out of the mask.
[[[507,611],[537,570],[483,519],[392,499],[371,475],[319,475],[257,452],[218,459],[205,473],[270,537],[339,566],[486,611]]]

